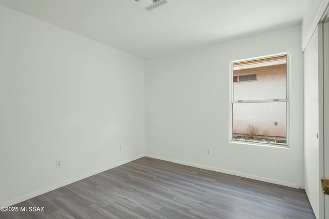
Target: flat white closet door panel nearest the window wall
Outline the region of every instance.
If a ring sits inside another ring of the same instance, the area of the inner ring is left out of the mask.
[[[319,86],[318,31],[304,51],[304,153],[305,191],[313,211],[319,218]]]

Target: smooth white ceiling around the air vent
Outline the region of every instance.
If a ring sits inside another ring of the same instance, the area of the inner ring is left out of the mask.
[[[148,59],[298,24],[307,0],[0,0],[0,4]]]

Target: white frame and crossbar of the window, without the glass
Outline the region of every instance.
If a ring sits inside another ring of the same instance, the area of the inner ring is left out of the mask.
[[[269,59],[280,56],[287,57],[287,96],[286,99],[273,99],[273,100],[233,100],[233,64],[241,62],[249,62],[261,59]],[[260,145],[267,147],[278,147],[278,148],[290,148],[290,52],[283,52],[277,54],[271,54],[268,56],[254,57],[249,59],[235,60],[230,62],[230,143],[236,144],[248,144],[248,145]],[[266,102],[285,102],[286,103],[286,145],[276,145],[269,143],[249,142],[249,141],[234,141],[233,140],[233,103],[266,103]]]

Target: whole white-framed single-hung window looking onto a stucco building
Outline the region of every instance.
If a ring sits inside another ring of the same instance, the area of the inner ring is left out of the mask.
[[[289,60],[281,53],[230,63],[230,142],[289,147]]]

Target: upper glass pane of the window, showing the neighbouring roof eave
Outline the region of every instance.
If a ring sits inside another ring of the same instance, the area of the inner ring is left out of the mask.
[[[286,56],[235,63],[233,64],[233,79],[237,76],[239,76],[239,82],[245,81],[232,85],[233,101],[287,98]],[[247,80],[250,77],[253,77],[253,80]]]

